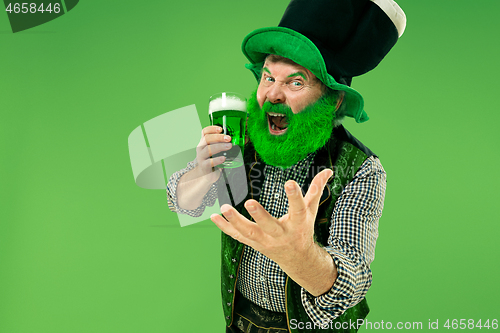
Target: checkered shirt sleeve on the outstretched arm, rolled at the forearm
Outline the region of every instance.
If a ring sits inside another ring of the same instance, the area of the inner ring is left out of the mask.
[[[371,156],[339,196],[324,248],[337,267],[337,279],[328,293],[318,297],[302,288],[302,304],[313,322],[325,324],[337,318],[362,301],[370,288],[385,189],[384,168]]]

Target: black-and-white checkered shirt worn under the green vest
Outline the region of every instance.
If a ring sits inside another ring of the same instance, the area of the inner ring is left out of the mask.
[[[287,180],[299,186],[305,182],[309,165],[315,153],[287,169],[266,165],[260,204],[274,217],[288,211],[288,198],[284,191]],[[212,206],[217,198],[213,185],[200,207],[187,211],[177,206],[176,188],[180,177],[192,170],[196,162],[174,173],[168,182],[167,197],[172,210],[191,216],[200,216],[205,206]],[[370,263],[375,256],[378,220],[382,215],[386,188],[386,174],[376,156],[361,165],[353,180],[339,196],[332,214],[328,246],[324,249],[332,256],[338,277],[332,289],[321,296],[312,296],[302,288],[302,305],[310,319],[324,324],[340,316],[360,302],[371,285]],[[285,312],[286,275],[271,259],[249,246],[245,246],[238,275],[237,288],[249,300],[276,312]]]

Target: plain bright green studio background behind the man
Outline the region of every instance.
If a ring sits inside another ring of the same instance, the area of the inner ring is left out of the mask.
[[[388,174],[368,320],[491,322],[500,2],[398,3],[405,34],[353,80],[371,119],[346,123]],[[0,13],[0,332],[223,332],[219,231],[135,185],[127,137],[249,94],[241,41],[286,4],[81,1],[16,34]]]

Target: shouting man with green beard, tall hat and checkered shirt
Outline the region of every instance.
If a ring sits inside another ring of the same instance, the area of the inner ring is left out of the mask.
[[[397,5],[380,2],[295,0],[279,27],[243,42],[259,81],[248,102],[249,194],[211,217],[223,231],[227,332],[356,331],[368,313],[385,171],[340,123],[367,120],[346,83],[375,67],[402,33],[386,14]],[[213,168],[224,158],[211,156],[230,140],[217,126],[203,129],[196,160],[169,181],[177,212],[200,215],[217,191],[221,201],[225,183]]]

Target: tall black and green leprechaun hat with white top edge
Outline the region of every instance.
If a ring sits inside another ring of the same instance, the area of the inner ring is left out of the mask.
[[[268,54],[291,59],[325,85],[345,91],[343,116],[368,120],[352,77],[375,68],[396,44],[406,17],[393,0],[292,0],[277,27],[257,29],[242,50],[260,80]]]

